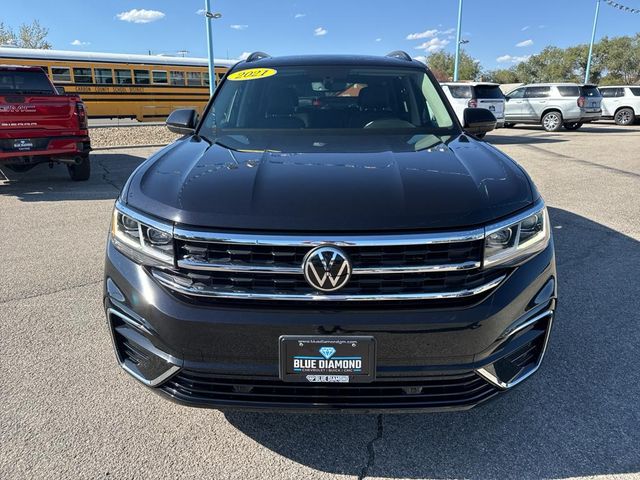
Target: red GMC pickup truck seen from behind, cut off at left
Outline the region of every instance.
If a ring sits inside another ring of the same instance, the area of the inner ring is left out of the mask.
[[[88,180],[90,151],[80,97],[58,93],[40,67],[0,65],[0,167],[63,163],[72,180]]]

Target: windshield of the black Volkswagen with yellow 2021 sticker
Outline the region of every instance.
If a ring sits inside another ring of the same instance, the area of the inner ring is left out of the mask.
[[[422,70],[289,66],[230,74],[200,134],[247,129],[451,133],[454,125]]]

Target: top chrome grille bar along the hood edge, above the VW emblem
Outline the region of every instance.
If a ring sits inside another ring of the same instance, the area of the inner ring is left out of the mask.
[[[461,232],[419,233],[397,235],[260,235],[244,233],[210,232],[206,230],[188,230],[182,227],[174,229],[177,240],[206,243],[228,243],[235,245],[269,245],[277,247],[317,247],[334,245],[336,247],[367,247],[396,245],[431,245],[438,243],[457,243],[482,240],[484,229],[476,228]]]

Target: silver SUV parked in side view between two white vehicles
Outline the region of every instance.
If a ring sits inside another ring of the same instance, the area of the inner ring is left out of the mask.
[[[506,95],[505,127],[516,123],[541,124],[548,132],[563,126],[577,130],[599,120],[602,96],[595,85],[538,83],[516,88]]]

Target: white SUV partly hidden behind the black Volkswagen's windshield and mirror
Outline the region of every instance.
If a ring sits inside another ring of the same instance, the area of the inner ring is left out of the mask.
[[[496,117],[497,127],[504,126],[505,100],[497,83],[447,82],[441,85],[461,123],[466,108],[486,108]]]

